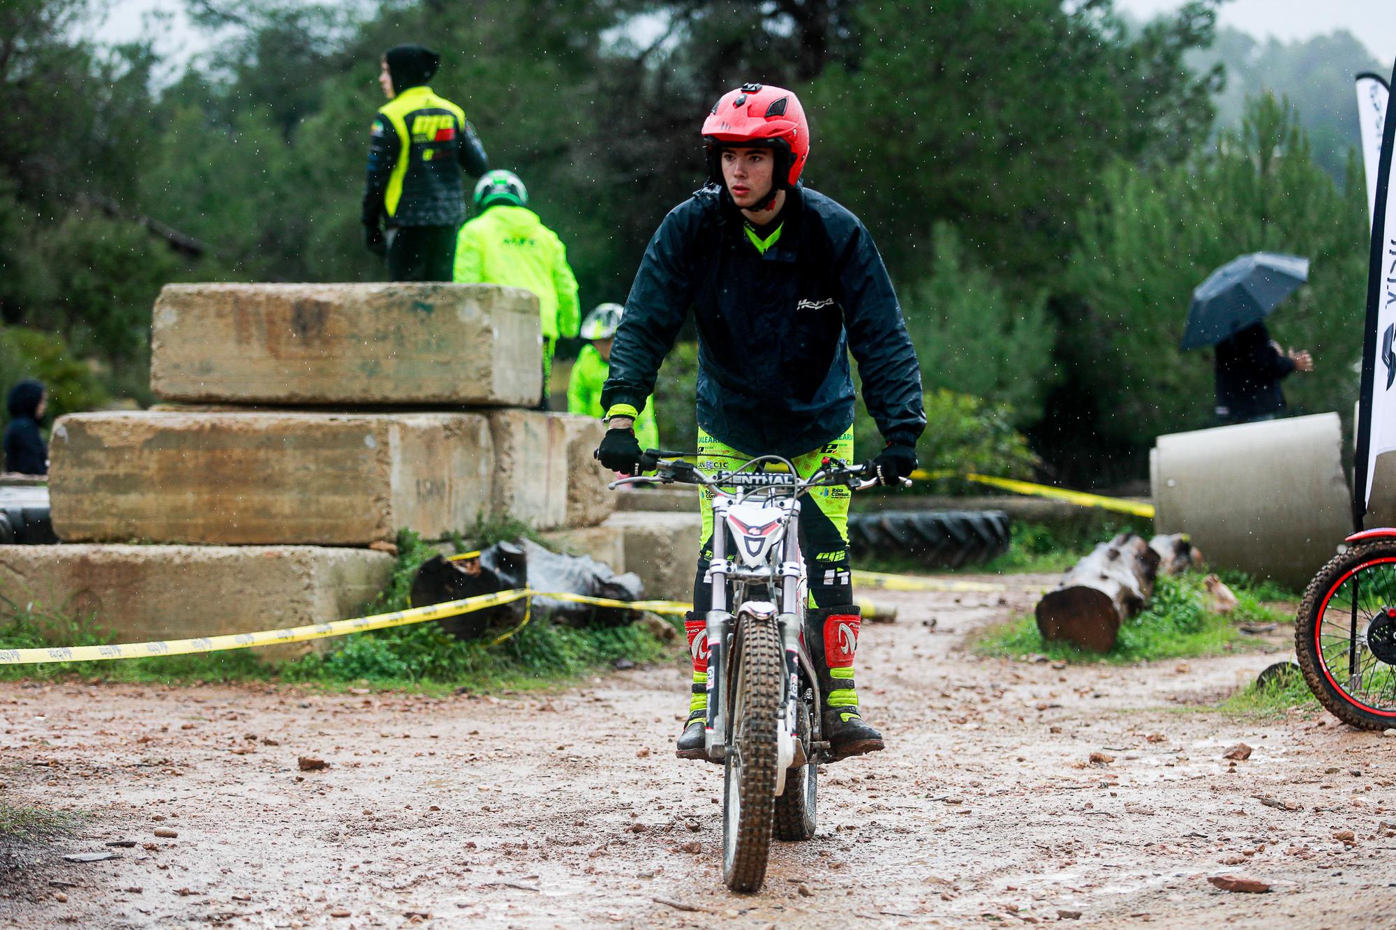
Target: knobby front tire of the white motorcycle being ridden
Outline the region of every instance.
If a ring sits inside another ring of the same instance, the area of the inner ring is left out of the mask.
[[[776,715],[780,711],[785,654],[775,620],[737,619],[733,751],[723,765],[722,880],[733,891],[758,891],[775,821]],[[740,702],[740,704],[738,704]]]

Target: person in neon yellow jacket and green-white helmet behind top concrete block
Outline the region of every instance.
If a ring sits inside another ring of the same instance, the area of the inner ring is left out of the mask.
[[[537,295],[543,324],[543,397],[547,409],[553,348],[558,337],[575,337],[581,320],[577,278],[567,247],[528,209],[528,189],[518,175],[487,172],[475,186],[480,215],[461,228],[455,244],[456,283],[497,283]]]

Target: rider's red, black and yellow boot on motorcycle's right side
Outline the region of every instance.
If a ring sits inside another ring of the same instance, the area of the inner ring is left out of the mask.
[[[835,762],[882,748],[882,735],[859,714],[859,694],[853,687],[860,620],[861,607],[856,605],[810,607],[804,619],[804,642],[824,695],[824,739],[829,741]]]

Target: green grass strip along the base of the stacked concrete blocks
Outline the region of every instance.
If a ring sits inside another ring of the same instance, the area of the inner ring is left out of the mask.
[[[482,524],[468,543],[456,539],[458,552],[498,539],[518,539],[514,524]],[[417,568],[437,554],[437,547],[416,533],[398,536],[398,559],[384,592],[364,613],[408,607]],[[73,620],[34,605],[7,602],[0,616],[0,648],[52,645],[103,645],[114,642],[95,619]],[[642,623],[611,628],[572,628],[533,613],[532,621],[498,645],[461,642],[436,623],[356,633],[331,640],[325,654],[310,654],[271,665],[247,649],[202,655],[154,656],[94,663],[39,663],[0,666],[0,680],[85,679],[109,681],[225,683],[285,681],[339,688],[367,684],[380,688],[497,690],[529,687],[572,679],[616,659],[653,662],[667,659],[674,648]]]

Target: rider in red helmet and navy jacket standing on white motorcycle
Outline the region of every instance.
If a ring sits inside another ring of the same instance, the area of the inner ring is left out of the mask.
[[[853,459],[859,363],[863,401],[886,443],[872,464],[898,485],[916,468],[926,429],[916,352],[882,258],[863,223],[804,187],[810,127],[790,91],[744,84],[702,126],[709,183],[676,207],[645,250],[610,355],[602,392],[606,468],[634,473],[634,419],[692,307],[698,328],[698,468],[733,457],[792,459],[801,475],[824,458]],[[711,492],[704,489],[694,612],[685,619],[694,684],[680,758],[705,758],[711,589]],[[882,748],[863,721],[853,681],[859,609],[847,550],[849,489],[817,489],[800,511],[810,599],[805,645],[824,694],[824,735],[836,760]]]

